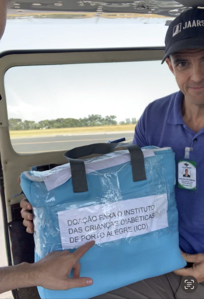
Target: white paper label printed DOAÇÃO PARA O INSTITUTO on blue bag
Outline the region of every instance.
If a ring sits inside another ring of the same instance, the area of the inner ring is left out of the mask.
[[[62,249],[134,237],[168,227],[167,194],[58,212]]]

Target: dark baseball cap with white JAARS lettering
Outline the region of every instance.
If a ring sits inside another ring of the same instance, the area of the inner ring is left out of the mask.
[[[193,8],[181,13],[169,25],[165,37],[165,57],[184,49],[204,49],[204,9]]]

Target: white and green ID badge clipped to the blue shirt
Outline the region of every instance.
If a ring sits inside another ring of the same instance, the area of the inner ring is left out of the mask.
[[[181,189],[196,190],[196,162],[179,160],[178,187]]]

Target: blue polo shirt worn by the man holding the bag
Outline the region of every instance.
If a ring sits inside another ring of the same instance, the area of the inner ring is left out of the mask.
[[[185,147],[193,147],[189,161],[197,164],[196,190],[178,187],[175,193],[179,213],[180,248],[189,254],[204,252],[204,128],[195,133],[183,121],[181,91],[150,103],[135,128],[133,143],[139,147],[171,147],[175,152],[176,179],[178,160]]]

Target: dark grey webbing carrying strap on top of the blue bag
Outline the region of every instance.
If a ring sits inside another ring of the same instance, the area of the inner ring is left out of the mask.
[[[138,147],[136,144],[125,144],[125,143],[90,144],[82,147],[76,147],[64,154],[64,156],[70,162],[74,193],[88,191],[85,164],[83,160],[80,160],[78,158],[88,156],[91,154],[108,154],[109,152],[113,152],[114,149],[119,147],[128,149],[130,152],[133,181],[137,182],[137,181],[146,180],[144,155],[140,147]]]

